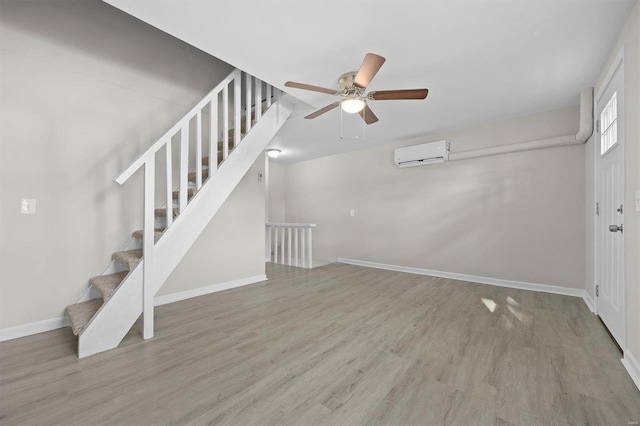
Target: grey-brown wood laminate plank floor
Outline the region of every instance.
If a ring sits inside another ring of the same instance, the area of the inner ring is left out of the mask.
[[[0,343],[0,424],[603,424],[640,392],[584,302],[331,264],[156,310],[76,358],[68,329]],[[637,424],[637,423],[636,423]]]

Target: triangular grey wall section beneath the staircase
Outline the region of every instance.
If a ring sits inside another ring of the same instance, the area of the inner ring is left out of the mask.
[[[167,295],[264,275],[264,173],[262,156],[191,246],[162,286]]]

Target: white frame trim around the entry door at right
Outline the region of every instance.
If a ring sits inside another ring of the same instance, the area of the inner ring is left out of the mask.
[[[600,102],[600,98],[602,98],[602,96],[604,95],[604,93],[606,92],[607,88],[609,87],[609,84],[611,83],[613,76],[615,75],[616,71],[619,70],[619,72],[621,73],[620,76],[620,81],[621,81],[621,87],[620,87],[620,91],[618,92],[618,97],[620,99],[620,105],[622,105],[622,108],[620,108],[619,110],[622,110],[622,117],[619,117],[619,123],[618,123],[618,128],[622,130],[623,132],[623,140],[622,140],[622,145],[619,146],[618,148],[620,148],[622,150],[622,162],[623,162],[623,166],[624,166],[624,179],[623,179],[623,188],[622,188],[622,193],[623,193],[623,199],[624,196],[626,195],[626,170],[627,170],[627,152],[626,152],[626,105],[625,105],[625,45],[622,45],[620,47],[620,49],[618,50],[618,52],[616,53],[616,55],[614,56],[614,60],[611,63],[611,65],[609,66],[609,69],[607,70],[607,73],[605,74],[605,78],[603,79],[602,82],[602,86],[599,88],[598,92],[595,94],[594,98],[593,98],[593,112],[594,112],[594,118],[596,121],[600,120],[600,116],[598,114],[598,103]],[[600,129],[598,129],[600,130]],[[601,200],[601,178],[600,178],[600,162],[602,160],[602,156],[600,154],[600,131],[596,131],[597,137],[595,138],[595,143],[594,143],[594,150],[595,150],[595,161],[594,161],[594,167],[595,167],[595,171],[594,171],[594,192],[595,192],[595,200],[596,203],[600,203]],[[627,209],[626,203],[625,204],[625,209]],[[594,206],[595,207],[595,206]],[[600,268],[600,251],[602,250],[602,242],[600,241],[600,237],[599,232],[601,231],[600,229],[600,219],[599,216],[596,214],[596,210],[593,210],[593,215],[594,215],[594,259],[595,259],[595,265],[594,265],[594,283],[593,283],[593,294],[596,294],[596,286],[598,285],[598,281],[600,280],[600,274],[601,274],[601,268]],[[624,236],[623,234],[623,246],[626,245],[626,236]],[[624,250],[624,256],[622,259],[622,288],[623,288],[623,307],[622,307],[622,312],[623,312],[623,321],[624,321],[624,332],[622,335],[622,341],[621,342],[617,342],[620,345],[620,348],[622,349],[623,352],[626,352],[626,348],[627,348],[627,330],[628,330],[628,324],[627,324],[627,251]],[[595,314],[598,315],[599,313],[599,298],[596,296],[594,297],[595,299],[595,303],[594,303],[594,307],[595,307]]]

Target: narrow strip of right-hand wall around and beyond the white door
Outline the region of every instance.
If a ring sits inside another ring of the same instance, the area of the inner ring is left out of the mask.
[[[595,86],[596,93],[606,85],[607,72],[622,48],[624,48],[626,113],[624,250],[627,285],[627,348],[625,349],[638,360],[640,359],[640,333],[638,333],[640,330],[640,212],[635,209],[635,194],[640,191],[640,4],[637,2],[611,47],[609,59],[603,66]],[[596,146],[592,146],[592,149],[595,151]],[[594,173],[593,167],[589,165],[587,168],[587,173]],[[593,192],[593,186],[587,191]],[[587,239],[594,240],[593,230],[587,234]],[[588,284],[592,285],[592,283]]]

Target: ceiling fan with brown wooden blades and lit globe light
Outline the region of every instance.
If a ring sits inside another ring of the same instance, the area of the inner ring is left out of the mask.
[[[373,113],[367,101],[389,101],[395,99],[424,99],[427,97],[427,89],[405,89],[405,90],[378,90],[365,95],[364,91],[384,64],[385,58],[375,53],[367,53],[358,71],[344,73],[338,79],[339,90],[328,89],[326,87],[313,86],[311,84],[296,83],[287,81],[286,87],[296,89],[311,90],[314,92],[328,93],[330,95],[342,96],[341,101],[334,102],[324,108],[307,115],[305,118],[316,118],[325,112],[331,111],[338,106],[348,113],[358,113],[367,124],[378,121],[378,117]]]

